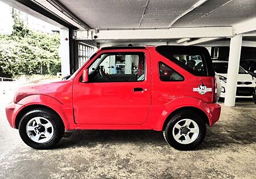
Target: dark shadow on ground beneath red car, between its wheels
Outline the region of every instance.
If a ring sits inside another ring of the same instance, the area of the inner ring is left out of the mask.
[[[81,130],[75,131],[71,137],[63,138],[57,148],[94,147],[97,144],[154,144],[165,145],[163,134],[151,130]]]

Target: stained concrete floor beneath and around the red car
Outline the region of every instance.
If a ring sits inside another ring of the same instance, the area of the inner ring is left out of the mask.
[[[222,105],[222,104],[221,104]],[[256,178],[256,105],[222,105],[194,151],[157,131],[77,131],[54,150],[34,150],[0,109],[0,178]]]

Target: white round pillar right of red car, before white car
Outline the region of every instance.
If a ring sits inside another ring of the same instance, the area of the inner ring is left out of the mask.
[[[229,66],[226,82],[225,106],[233,107],[236,102],[237,79],[242,46],[242,36],[232,37],[230,40]]]

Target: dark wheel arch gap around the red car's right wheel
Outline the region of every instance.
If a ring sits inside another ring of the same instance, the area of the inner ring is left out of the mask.
[[[173,112],[171,112],[167,117],[166,117],[166,120],[164,121],[163,125],[162,125],[162,130],[164,129],[164,127],[166,127],[167,123],[170,121],[170,118],[172,116],[174,116],[175,114],[183,111],[183,110],[191,110],[192,112],[196,112],[197,114],[199,114],[205,123],[207,123],[207,125],[209,126],[209,119],[208,119],[208,116],[207,114],[199,109],[199,108],[196,108],[196,107],[193,107],[193,106],[184,106],[184,107],[181,107],[181,108],[177,108],[175,109]]]

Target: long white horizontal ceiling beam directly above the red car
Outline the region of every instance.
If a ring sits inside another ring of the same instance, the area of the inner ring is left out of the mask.
[[[116,29],[100,31],[73,31],[73,39],[83,40],[151,40],[232,36],[232,27],[182,27],[170,29]]]

